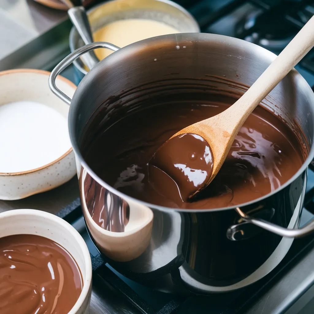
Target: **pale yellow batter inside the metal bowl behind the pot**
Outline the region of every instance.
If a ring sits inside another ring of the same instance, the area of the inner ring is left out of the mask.
[[[175,28],[149,19],[123,19],[109,23],[97,30],[94,41],[106,41],[120,48],[146,38],[179,33]],[[109,49],[95,50],[96,56],[101,60],[111,54]]]

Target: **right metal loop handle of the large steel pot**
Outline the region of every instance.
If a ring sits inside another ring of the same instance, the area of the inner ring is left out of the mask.
[[[271,222],[268,222],[264,219],[248,216],[247,214],[243,213],[239,207],[236,208],[236,212],[241,216],[243,220],[253,225],[256,225],[258,227],[261,227],[267,231],[273,232],[276,235],[284,236],[287,238],[301,238],[303,236],[309,235],[310,233],[314,231],[314,220],[310,221],[308,224],[306,224],[304,227],[300,229],[287,229],[287,228],[275,225]],[[230,231],[231,230],[228,230],[227,233]]]

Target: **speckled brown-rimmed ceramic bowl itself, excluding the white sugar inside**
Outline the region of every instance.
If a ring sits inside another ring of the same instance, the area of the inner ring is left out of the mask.
[[[50,91],[47,84],[49,74],[34,69],[0,72],[0,106],[17,101],[34,101],[57,110],[68,120],[69,106]],[[71,81],[59,76],[57,85],[69,97],[73,96],[76,86]],[[23,153],[20,158],[24,158]],[[69,181],[75,174],[74,153],[69,144],[67,151],[60,154],[59,158],[52,158],[48,164],[38,165],[34,169],[1,172],[0,167],[0,199],[16,200],[45,192]]]

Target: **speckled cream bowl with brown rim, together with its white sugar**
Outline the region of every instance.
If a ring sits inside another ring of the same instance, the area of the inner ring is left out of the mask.
[[[51,190],[76,173],[68,134],[69,106],[50,91],[49,72],[0,72],[0,199]],[[58,77],[72,97],[76,86]]]

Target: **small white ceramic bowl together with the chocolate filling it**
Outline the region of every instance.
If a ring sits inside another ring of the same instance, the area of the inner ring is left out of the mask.
[[[92,267],[79,233],[34,209],[0,214],[0,312],[86,314]]]

